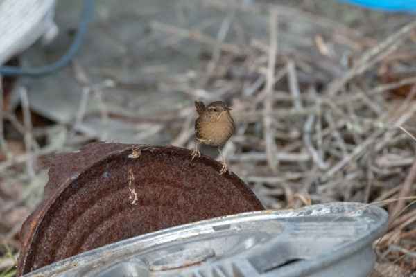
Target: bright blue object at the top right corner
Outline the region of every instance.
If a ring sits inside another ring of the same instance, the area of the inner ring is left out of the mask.
[[[338,0],[388,12],[416,12],[416,0]]]

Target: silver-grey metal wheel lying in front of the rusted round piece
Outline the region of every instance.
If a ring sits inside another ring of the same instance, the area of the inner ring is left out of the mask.
[[[385,231],[388,214],[360,206],[217,217],[116,242],[25,276],[364,277],[374,267],[372,242]]]

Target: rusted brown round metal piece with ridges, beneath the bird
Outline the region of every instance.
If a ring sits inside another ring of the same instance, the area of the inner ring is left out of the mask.
[[[89,249],[263,209],[234,173],[176,147],[92,143],[46,161],[44,202],[21,229],[17,276]]]

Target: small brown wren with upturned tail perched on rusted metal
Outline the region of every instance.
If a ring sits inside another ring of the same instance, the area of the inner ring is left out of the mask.
[[[201,101],[195,101],[196,111],[199,117],[195,121],[195,136],[198,142],[192,152],[192,160],[201,153],[198,150],[198,143],[204,143],[209,146],[218,148],[221,157],[223,158],[223,168],[220,174],[227,172],[227,163],[225,162],[220,146],[228,141],[234,133],[234,120],[225,102],[216,101],[211,102],[207,107]]]

